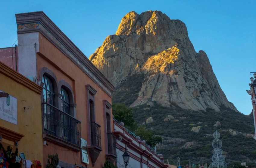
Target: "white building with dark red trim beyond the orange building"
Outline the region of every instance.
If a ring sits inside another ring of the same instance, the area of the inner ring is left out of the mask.
[[[116,143],[117,151],[117,166],[124,165],[123,154],[127,149],[130,155],[130,161],[128,166],[130,168],[164,168],[168,165],[164,164],[164,158],[156,155],[146,145],[145,141],[137,140],[131,135],[126,128],[123,127],[123,123],[118,124],[114,121],[114,132],[113,134],[118,138]]]

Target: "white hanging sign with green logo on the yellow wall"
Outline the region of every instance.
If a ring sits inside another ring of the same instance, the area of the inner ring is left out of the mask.
[[[17,125],[17,98],[0,98],[0,119]]]

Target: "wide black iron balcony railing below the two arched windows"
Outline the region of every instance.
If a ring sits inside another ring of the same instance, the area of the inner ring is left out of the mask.
[[[44,133],[81,145],[81,122],[58,108],[42,103]]]

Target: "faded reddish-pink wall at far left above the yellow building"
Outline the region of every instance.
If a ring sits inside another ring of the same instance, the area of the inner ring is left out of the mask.
[[[18,57],[18,47],[16,48],[17,57]],[[0,48],[0,61],[6,64],[8,67],[15,70],[16,63],[15,63],[15,49],[14,47],[8,48]],[[18,61],[18,60],[17,60]],[[18,64],[18,62],[17,62]]]

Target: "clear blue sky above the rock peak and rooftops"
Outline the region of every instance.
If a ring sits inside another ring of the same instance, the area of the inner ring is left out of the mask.
[[[220,87],[244,114],[252,110],[245,90],[256,71],[256,0],[0,0],[0,48],[17,40],[15,13],[44,11],[89,57],[108,35],[115,34],[130,11],[160,10],[180,19],[195,51],[204,50]]]

